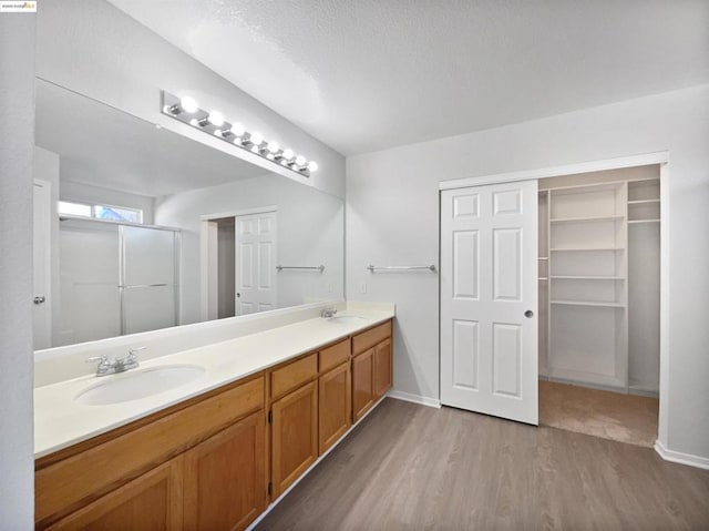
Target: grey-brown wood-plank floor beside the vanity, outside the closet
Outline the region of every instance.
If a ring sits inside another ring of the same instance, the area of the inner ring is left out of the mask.
[[[388,398],[256,529],[707,530],[709,471]]]

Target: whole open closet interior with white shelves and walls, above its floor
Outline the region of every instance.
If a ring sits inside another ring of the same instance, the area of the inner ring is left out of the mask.
[[[540,378],[659,392],[659,165],[540,181]]]

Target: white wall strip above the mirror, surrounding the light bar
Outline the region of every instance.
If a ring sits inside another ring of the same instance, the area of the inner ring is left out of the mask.
[[[37,74],[148,122],[239,156],[267,171],[291,172],[160,112],[160,91],[189,93],[204,109],[318,161],[309,180],[340,197],[342,155],[254,100],[104,0],[43,0],[38,10]],[[169,9],[166,4],[165,9]],[[286,88],[287,90],[287,88]]]

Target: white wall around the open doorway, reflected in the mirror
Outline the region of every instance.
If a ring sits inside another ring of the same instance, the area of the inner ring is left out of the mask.
[[[278,263],[326,266],[322,274],[278,273],[278,307],[343,298],[342,201],[268,174],[156,200],[155,222],[182,228],[182,324],[201,320],[201,216],[269,205],[278,207]]]

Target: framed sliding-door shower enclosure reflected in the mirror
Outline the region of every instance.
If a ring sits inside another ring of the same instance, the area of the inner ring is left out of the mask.
[[[59,343],[175,326],[179,231],[60,217]]]

